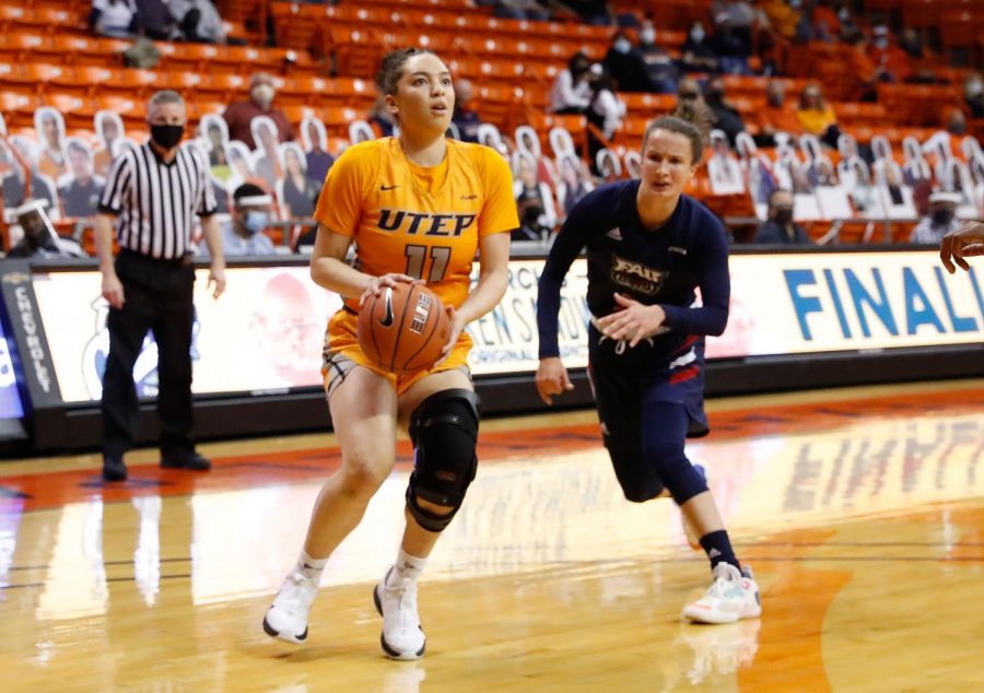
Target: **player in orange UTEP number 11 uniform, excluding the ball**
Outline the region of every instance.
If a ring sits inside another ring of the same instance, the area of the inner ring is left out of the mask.
[[[417,580],[475,477],[479,402],[467,366],[465,325],[489,313],[506,290],[509,233],[519,226],[505,160],[493,150],[445,139],[455,107],[447,67],[409,48],[383,60],[376,84],[399,122],[398,138],[349,148],[328,172],[315,213],[315,282],[344,307],[329,321],[323,373],[341,468],[315,504],[304,549],[263,620],[271,636],[300,643],[331,552],[359,524],[389,475],[397,425],[409,426],[414,469],[407,489],[402,543],[373,590],[383,615],[383,649],[417,659],[426,638]],[[355,244],[355,261],[345,262]],[[480,272],[469,293],[476,250]],[[444,359],[429,371],[396,376],[370,365],[355,337],[371,295],[424,280],[447,306]]]

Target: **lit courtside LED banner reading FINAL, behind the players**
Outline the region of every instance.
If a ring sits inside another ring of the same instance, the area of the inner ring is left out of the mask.
[[[532,375],[542,266],[542,257],[513,259],[503,301],[467,328],[477,387],[494,392],[485,398],[487,411],[540,407]],[[98,427],[92,420],[108,352],[99,273],[91,262],[16,267],[4,269],[2,289],[27,409],[35,416],[58,410],[78,425],[68,427],[69,438],[91,437]],[[578,259],[567,273],[559,322],[561,355],[581,381],[587,365],[586,267]],[[707,339],[708,392],[977,375],[984,354],[950,357],[953,350],[980,351],[984,342],[984,263],[977,269],[950,275],[928,249],[735,252],[728,327]],[[233,263],[218,301],[207,291],[207,269],[198,270],[191,348],[199,430],[224,435],[325,426],[321,349],[339,296],[312,282],[305,258]],[[16,392],[7,383],[12,371],[4,369],[3,355],[0,412],[19,416],[20,401],[2,399]],[[827,367],[832,363],[836,368]],[[152,399],[157,391],[152,334],[133,376],[138,394]],[[578,386],[565,397],[585,406],[590,391]],[[290,421],[268,415],[276,411],[263,409],[270,403],[288,407]],[[235,413],[235,407],[244,409]],[[199,410],[207,414],[206,426]],[[244,419],[247,412],[253,413]],[[257,412],[267,413],[256,419]]]

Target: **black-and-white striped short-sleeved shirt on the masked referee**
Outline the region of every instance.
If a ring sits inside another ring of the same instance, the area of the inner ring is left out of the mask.
[[[141,255],[173,260],[192,251],[195,214],[215,213],[209,167],[194,144],[169,164],[150,142],[120,154],[99,198],[99,211],[118,216],[117,242]]]

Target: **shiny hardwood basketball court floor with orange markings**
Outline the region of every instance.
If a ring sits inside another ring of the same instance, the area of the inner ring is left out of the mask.
[[[427,655],[379,650],[409,447],[326,569],[307,644],[260,621],[294,561],[328,435],[0,466],[0,690],[461,693],[984,690],[984,381],[711,402],[689,447],[760,620],[688,625],[706,587],[666,501],[619,494],[591,412],[490,421],[421,587]]]

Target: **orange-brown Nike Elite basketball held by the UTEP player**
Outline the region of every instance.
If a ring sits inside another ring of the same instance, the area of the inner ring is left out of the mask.
[[[359,313],[359,345],[373,365],[390,373],[430,368],[441,357],[448,330],[444,304],[421,283],[386,286]]]

